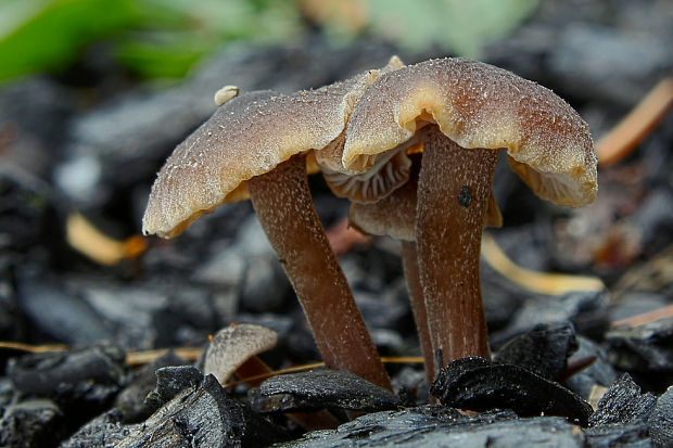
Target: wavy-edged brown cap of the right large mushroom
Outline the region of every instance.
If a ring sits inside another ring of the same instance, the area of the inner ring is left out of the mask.
[[[465,59],[410,65],[370,86],[348,123],[344,170],[366,171],[433,123],[462,148],[507,149],[515,171],[543,199],[582,206],[596,196],[596,156],[577,113],[547,88]]]

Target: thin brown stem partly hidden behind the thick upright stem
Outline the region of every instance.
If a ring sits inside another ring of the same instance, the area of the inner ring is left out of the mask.
[[[428,312],[426,311],[423,289],[420,283],[418,271],[418,252],[416,251],[416,243],[412,241],[402,242],[402,267],[404,269],[404,278],[407,282],[407,292],[409,293],[411,311],[414,311],[414,321],[416,322],[416,329],[418,331],[421,354],[423,355],[426,381],[428,382],[428,387],[430,387],[436,374],[436,367],[434,366],[430,329],[428,328]]]

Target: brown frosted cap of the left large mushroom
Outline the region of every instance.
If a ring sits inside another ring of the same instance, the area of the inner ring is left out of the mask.
[[[401,65],[394,57],[383,71]],[[378,77],[379,71],[369,71],[290,95],[264,91],[229,99],[227,94],[228,101],[176,148],[160,170],[143,233],[176,236],[218,205],[247,199],[245,180],[294,154],[328,146],[342,135],[357,98]],[[341,151],[333,156],[341,157]],[[313,157],[308,163],[315,166]],[[333,164],[340,163],[339,158]]]

